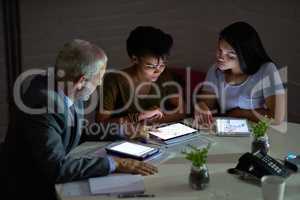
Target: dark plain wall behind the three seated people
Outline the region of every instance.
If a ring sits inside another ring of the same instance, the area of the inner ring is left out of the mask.
[[[299,8],[297,0],[21,0],[22,68],[53,65],[57,50],[73,38],[96,43],[107,52],[109,67],[122,68],[129,63],[125,50],[129,32],[138,25],[151,25],[174,37],[171,66],[206,71],[214,60],[218,32],[244,20],[257,29],[278,67],[288,66],[288,117],[299,122]],[[0,28],[0,44],[2,34]],[[6,113],[2,46],[0,64],[0,108]],[[2,137],[6,124],[0,122]]]

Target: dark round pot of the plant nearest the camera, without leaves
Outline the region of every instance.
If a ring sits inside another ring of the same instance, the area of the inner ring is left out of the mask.
[[[203,190],[209,183],[209,173],[206,165],[195,167],[192,165],[189,184],[194,190]]]

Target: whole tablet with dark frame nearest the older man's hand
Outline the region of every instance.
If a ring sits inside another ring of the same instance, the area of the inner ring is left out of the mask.
[[[158,148],[152,148],[131,142],[113,143],[106,148],[107,153],[116,154],[121,157],[128,157],[137,160],[144,160],[159,152]]]

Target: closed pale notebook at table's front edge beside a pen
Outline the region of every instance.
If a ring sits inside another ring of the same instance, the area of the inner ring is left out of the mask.
[[[112,174],[90,178],[88,182],[91,194],[95,195],[141,194],[145,191],[141,175]]]

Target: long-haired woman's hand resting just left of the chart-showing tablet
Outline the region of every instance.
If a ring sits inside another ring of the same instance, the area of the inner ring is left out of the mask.
[[[208,127],[211,127],[214,121],[212,112],[204,102],[200,102],[195,106],[194,117],[197,123]]]

